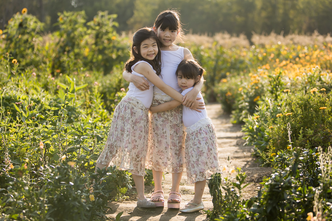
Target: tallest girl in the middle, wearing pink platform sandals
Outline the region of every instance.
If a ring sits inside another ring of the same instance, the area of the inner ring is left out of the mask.
[[[161,75],[164,83],[181,92],[175,75],[178,64],[185,58],[193,58],[191,52],[184,47],[174,44],[178,38],[181,41],[182,27],[178,12],[166,10],[161,12],[153,30],[161,43]],[[145,90],[149,88],[147,81],[128,72],[124,72],[124,79]],[[194,89],[184,96],[184,105],[194,107],[197,94],[202,89],[203,79]],[[172,98],[157,87],[153,88],[152,106],[168,102]],[[169,208],[180,208],[181,193],[179,186],[184,169],[184,125],[182,122],[182,105],[175,109],[150,115],[149,147],[146,167],[152,169],[154,193],[151,200],[156,206],[164,206],[164,192],[162,189],[163,172],[172,173],[172,188],[168,197]]]

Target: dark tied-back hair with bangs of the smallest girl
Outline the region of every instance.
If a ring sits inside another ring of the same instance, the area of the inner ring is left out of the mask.
[[[184,59],[180,62],[178,65],[178,68],[176,69],[176,76],[181,75],[182,78],[190,78],[190,79],[195,79],[197,77],[202,78],[205,70],[202,68],[202,66],[195,60],[193,59]],[[194,85],[198,83],[195,82]]]

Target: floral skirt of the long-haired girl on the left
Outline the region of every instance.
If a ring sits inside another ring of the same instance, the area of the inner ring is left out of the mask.
[[[106,145],[97,163],[119,166],[121,170],[144,176],[148,146],[149,109],[125,96],[114,110]]]

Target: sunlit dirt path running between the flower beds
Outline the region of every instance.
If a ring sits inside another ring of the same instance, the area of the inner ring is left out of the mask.
[[[244,198],[250,198],[257,194],[257,188],[259,182],[262,181],[264,176],[270,174],[270,168],[259,167],[255,163],[255,159],[251,156],[251,146],[243,146],[244,140],[241,138],[243,133],[241,131],[241,125],[232,125],[229,123],[229,116],[220,115],[221,107],[220,104],[208,104],[206,106],[207,115],[212,119],[214,127],[216,129],[218,137],[218,153],[220,165],[230,167],[241,167],[242,171],[246,172],[248,185],[242,192]],[[228,156],[230,162],[227,161]],[[225,174],[223,176],[226,176]],[[165,201],[171,189],[171,174],[165,175],[163,181],[163,188],[165,192]],[[146,196],[150,196],[153,192],[153,187],[145,187]],[[194,195],[194,184],[189,185],[186,183],[186,174],[182,176],[180,184],[180,192],[182,194],[181,207],[193,198]],[[129,192],[129,199],[122,202],[111,202],[109,206],[111,209],[107,217],[110,220],[115,220],[118,213],[123,212],[120,220],[123,221],[198,221],[206,220],[206,214],[203,211],[196,213],[184,214],[179,212],[179,209],[168,209],[167,203],[165,207],[157,207],[155,209],[145,209],[136,206],[136,197],[134,188]],[[212,197],[209,193],[209,189],[206,186],[203,203],[205,209],[212,209],[213,204],[211,201]]]

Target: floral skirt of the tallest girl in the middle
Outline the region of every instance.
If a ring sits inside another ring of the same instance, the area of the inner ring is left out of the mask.
[[[154,92],[152,105],[156,106],[171,100],[168,95]],[[169,173],[183,172],[184,128],[182,105],[169,111],[150,114],[146,168]]]

